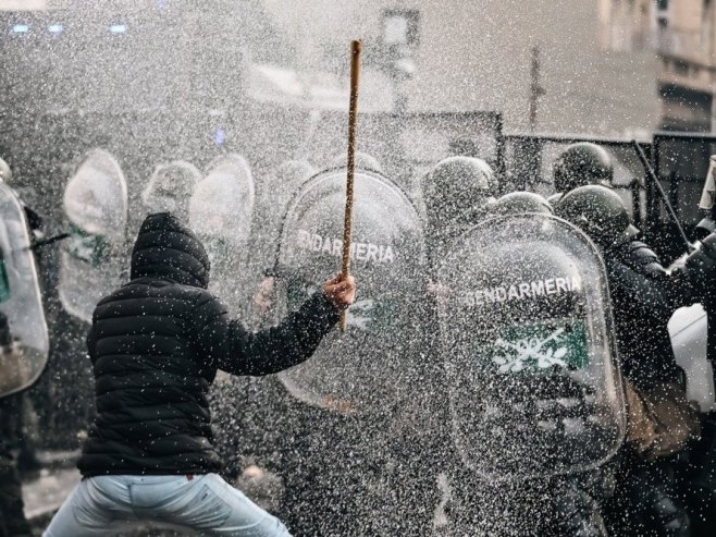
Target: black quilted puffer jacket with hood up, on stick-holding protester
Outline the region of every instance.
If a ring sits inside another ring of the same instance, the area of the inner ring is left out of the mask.
[[[318,293],[277,327],[249,333],[208,283],[196,235],[169,213],[147,217],[129,283],[97,305],[87,335],[97,418],[78,462],[83,475],[219,471],[207,401],[217,370],[286,369],[308,358],[338,319]]]

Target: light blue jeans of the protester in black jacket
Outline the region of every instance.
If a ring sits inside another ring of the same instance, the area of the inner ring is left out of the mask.
[[[85,478],[42,536],[108,536],[147,522],[199,535],[291,537],[279,518],[217,474]]]

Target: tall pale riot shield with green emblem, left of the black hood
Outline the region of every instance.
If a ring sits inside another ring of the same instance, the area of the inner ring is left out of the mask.
[[[64,191],[71,237],[61,255],[59,295],[65,310],[86,321],[122,281],[121,248],[127,224],[127,185],[120,164],[92,149]]]

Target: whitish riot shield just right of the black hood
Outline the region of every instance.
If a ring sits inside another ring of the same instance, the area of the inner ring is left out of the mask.
[[[242,313],[248,301],[246,259],[254,204],[254,176],[238,155],[218,160],[189,202],[189,225],[211,260],[210,289],[234,314]]]

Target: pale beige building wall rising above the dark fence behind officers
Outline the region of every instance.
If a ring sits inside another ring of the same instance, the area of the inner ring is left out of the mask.
[[[605,44],[612,19],[601,0],[263,3],[296,44],[304,69],[346,64],[348,41],[362,37],[368,68],[392,74],[410,111],[497,110],[508,130],[529,130],[532,49],[539,47],[544,95],[536,130],[632,136],[659,123],[653,48]],[[625,32],[617,25],[613,39],[626,39]],[[399,61],[402,69],[393,69]]]

